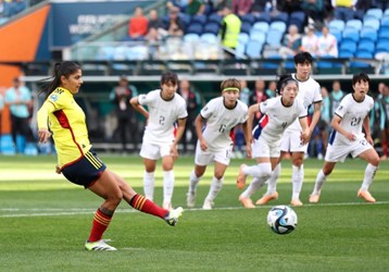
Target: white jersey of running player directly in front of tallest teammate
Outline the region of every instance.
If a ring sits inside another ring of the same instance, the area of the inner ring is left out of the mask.
[[[299,98],[289,107],[283,104],[281,97],[271,98],[260,103],[260,111],[263,116],[254,127],[253,136],[267,143],[279,141],[287,127],[296,120],[306,116],[306,108]]]

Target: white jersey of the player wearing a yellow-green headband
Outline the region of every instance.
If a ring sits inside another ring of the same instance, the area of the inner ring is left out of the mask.
[[[233,144],[230,131],[247,121],[248,107],[238,100],[234,109],[227,109],[224,106],[224,98],[217,97],[208,102],[200,114],[206,120],[203,136],[208,147],[210,150],[216,150]]]

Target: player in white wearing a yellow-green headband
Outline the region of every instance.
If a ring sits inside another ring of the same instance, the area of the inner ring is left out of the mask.
[[[195,207],[197,186],[205,173],[206,165],[214,163],[214,176],[210,191],[203,202],[204,210],[211,210],[213,201],[222,189],[224,173],[229,164],[234,143],[230,132],[238,124],[242,124],[244,138],[247,135],[248,107],[238,100],[240,82],[228,78],[221,84],[222,97],[212,99],[197,116],[196,133],[198,143],[195,156],[195,170],[189,177],[187,205]],[[206,122],[203,128],[203,123]],[[248,153],[250,156],[250,153]]]

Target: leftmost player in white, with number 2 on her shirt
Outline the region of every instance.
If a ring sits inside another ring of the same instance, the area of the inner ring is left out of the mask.
[[[177,91],[178,78],[172,72],[161,76],[161,89],[134,97],[131,106],[147,119],[140,157],[143,158],[145,196],[153,200],[156,161],[162,158],[163,208],[172,209],[174,189],[174,161],[178,157],[177,145],[184,134],[188,116],[186,103]],[[148,111],[143,108],[148,107]],[[177,128],[175,124],[178,124]],[[176,131],[175,131],[176,129]]]

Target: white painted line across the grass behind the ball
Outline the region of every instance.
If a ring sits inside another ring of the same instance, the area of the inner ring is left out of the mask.
[[[311,208],[311,207],[336,207],[336,206],[363,206],[363,205],[388,205],[389,201],[377,201],[375,203],[367,202],[342,202],[342,203],[315,203],[315,205],[304,205],[297,209]],[[256,209],[268,209],[273,206],[260,206]],[[243,207],[224,207],[224,208],[214,208],[213,210],[243,210]],[[185,212],[192,211],[203,211],[201,208],[195,209],[185,209]],[[8,214],[0,214],[0,218],[33,218],[33,217],[63,217],[63,215],[79,215],[79,214],[91,214],[96,212],[96,209],[61,209],[61,208],[49,208],[49,209],[17,209],[17,208],[4,208],[0,209],[1,212],[10,212]],[[23,212],[23,213],[17,213]],[[131,213],[139,212],[134,209],[117,209],[115,213]]]

